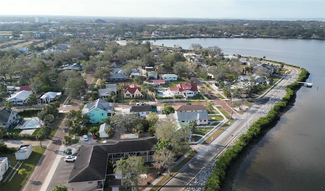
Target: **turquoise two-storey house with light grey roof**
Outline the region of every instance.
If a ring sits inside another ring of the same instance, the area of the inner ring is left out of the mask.
[[[90,117],[89,122],[91,123],[102,123],[105,118],[113,116],[114,104],[98,99],[86,104],[81,113],[87,114]]]

